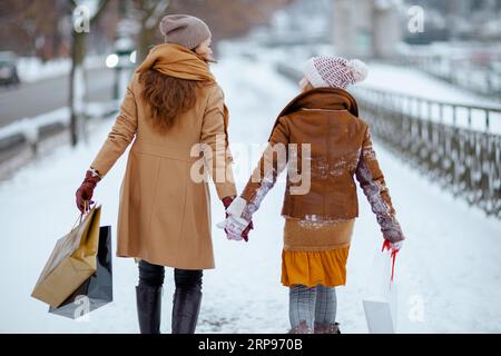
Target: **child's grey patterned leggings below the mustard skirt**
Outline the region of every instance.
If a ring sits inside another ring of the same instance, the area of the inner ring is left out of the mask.
[[[289,288],[288,315],[291,327],[306,322],[313,328],[313,323],[334,324],[336,319],[336,289],[322,285],[308,288],[295,285]]]

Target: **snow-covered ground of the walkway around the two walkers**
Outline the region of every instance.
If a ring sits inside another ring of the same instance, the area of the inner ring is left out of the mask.
[[[227,51],[214,70],[230,109],[234,145],[263,144],[275,116],[298,89],[274,71],[271,60],[239,57]],[[389,68],[389,71],[392,71]],[[411,87],[411,85],[406,85]],[[432,90],[434,88],[430,88]],[[73,322],[47,313],[30,297],[31,289],[56,239],[71,228],[78,211],[75,190],[104,142],[112,119],[96,130],[87,145],[61,147],[0,182],[1,333],[137,333],[131,259],[114,259],[115,301]],[[407,237],[397,257],[400,333],[501,332],[501,222],[489,219],[462,200],[403,165],[382,147],[377,157],[401,225]],[[249,167],[238,156],[237,185],[242,189]],[[112,225],[126,155],[98,186],[101,225]],[[214,225],[224,217],[213,189]],[[216,269],[205,271],[199,333],[285,333],[288,290],[281,286],[284,184],[278,182],[256,214],[250,241],[234,243],[214,228]],[[344,333],[366,333],[363,293],[381,233],[358,189],[361,217],[356,221],[348,259],[347,285],[337,289],[337,319]],[[115,243],[114,236],[114,243]],[[116,244],[115,244],[116,245]],[[115,248],[115,246],[114,246]],[[168,270],[164,290],[163,332],[170,327],[174,278]]]

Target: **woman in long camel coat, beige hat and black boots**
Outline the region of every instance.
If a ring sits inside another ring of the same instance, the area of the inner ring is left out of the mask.
[[[228,112],[208,69],[207,24],[194,17],[167,16],[160,30],[166,43],[155,47],[136,70],[116,123],[77,191],[77,205],[85,209],[97,182],[134,141],[120,189],[117,255],[140,260],[140,332],[160,330],[168,266],[175,268],[176,280],[173,333],[194,333],[202,270],[215,267],[207,171],[225,206],[236,195],[227,150]]]

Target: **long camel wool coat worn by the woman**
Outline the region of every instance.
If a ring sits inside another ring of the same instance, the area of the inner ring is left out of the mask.
[[[230,152],[220,145],[227,138],[223,91],[217,83],[197,90],[196,105],[160,134],[141,98],[138,73],[127,88],[118,118],[91,164],[105,177],[132,144],[120,188],[118,257],[181,269],[215,268],[206,178],[223,169],[223,178],[214,179],[219,198],[235,196],[236,188]],[[212,160],[203,150],[194,154],[197,144],[209,149]],[[200,161],[208,169],[200,169]],[[193,171],[202,171],[204,179],[194,179]]]

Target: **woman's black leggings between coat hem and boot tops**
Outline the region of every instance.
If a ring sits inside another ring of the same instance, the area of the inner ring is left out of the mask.
[[[176,288],[202,289],[203,271],[200,269],[174,269]],[[165,267],[139,261],[139,285],[161,287],[164,285]]]

